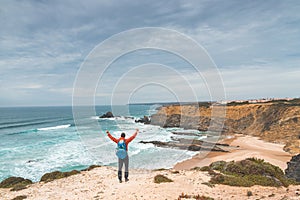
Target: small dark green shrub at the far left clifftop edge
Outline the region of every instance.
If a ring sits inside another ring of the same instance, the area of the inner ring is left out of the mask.
[[[22,177],[9,177],[0,183],[0,188],[12,188],[11,191],[18,191],[25,189],[27,185],[32,184],[29,179]]]

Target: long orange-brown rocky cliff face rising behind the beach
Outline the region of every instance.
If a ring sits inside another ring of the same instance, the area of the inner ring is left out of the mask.
[[[163,106],[151,116],[151,124],[207,131],[211,112],[211,105]],[[222,132],[259,136],[285,144],[285,150],[293,154],[300,153],[300,100],[227,105]]]

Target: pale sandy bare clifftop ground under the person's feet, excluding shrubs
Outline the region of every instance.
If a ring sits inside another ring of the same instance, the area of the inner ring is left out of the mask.
[[[299,198],[299,186],[285,187],[234,187],[227,185],[207,184],[210,176],[207,172],[197,170],[130,170],[130,181],[119,183],[114,167],[98,167],[91,171],[81,172],[67,178],[51,182],[38,182],[20,191],[0,189],[0,198],[12,200],[18,196],[26,196],[26,200],[44,199],[179,199],[181,194],[200,195],[213,199],[240,200],[240,199],[289,199]],[[164,175],[173,182],[154,183],[156,175]],[[253,196],[247,196],[251,191]],[[287,198],[288,197],[288,198]]]

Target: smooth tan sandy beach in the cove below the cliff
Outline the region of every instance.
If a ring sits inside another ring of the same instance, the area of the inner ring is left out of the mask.
[[[266,142],[254,136],[235,134],[222,139],[220,143],[230,145],[231,148],[226,149],[229,152],[200,152],[191,159],[175,164],[173,169],[187,170],[207,166],[215,161],[239,161],[256,157],[284,171],[287,168],[287,162],[292,158],[292,154],[283,150],[284,145]]]

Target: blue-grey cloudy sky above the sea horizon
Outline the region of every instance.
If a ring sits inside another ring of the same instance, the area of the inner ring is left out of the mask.
[[[297,0],[1,0],[0,106],[71,105],[91,51],[143,27],[176,30],[201,45],[226,99],[299,97],[299,10]],[[211,100],[195,74],[178,56],[141,49],[107,68],[93,98],[97,104]],[[194,96],[184,93],[191,85]]]

